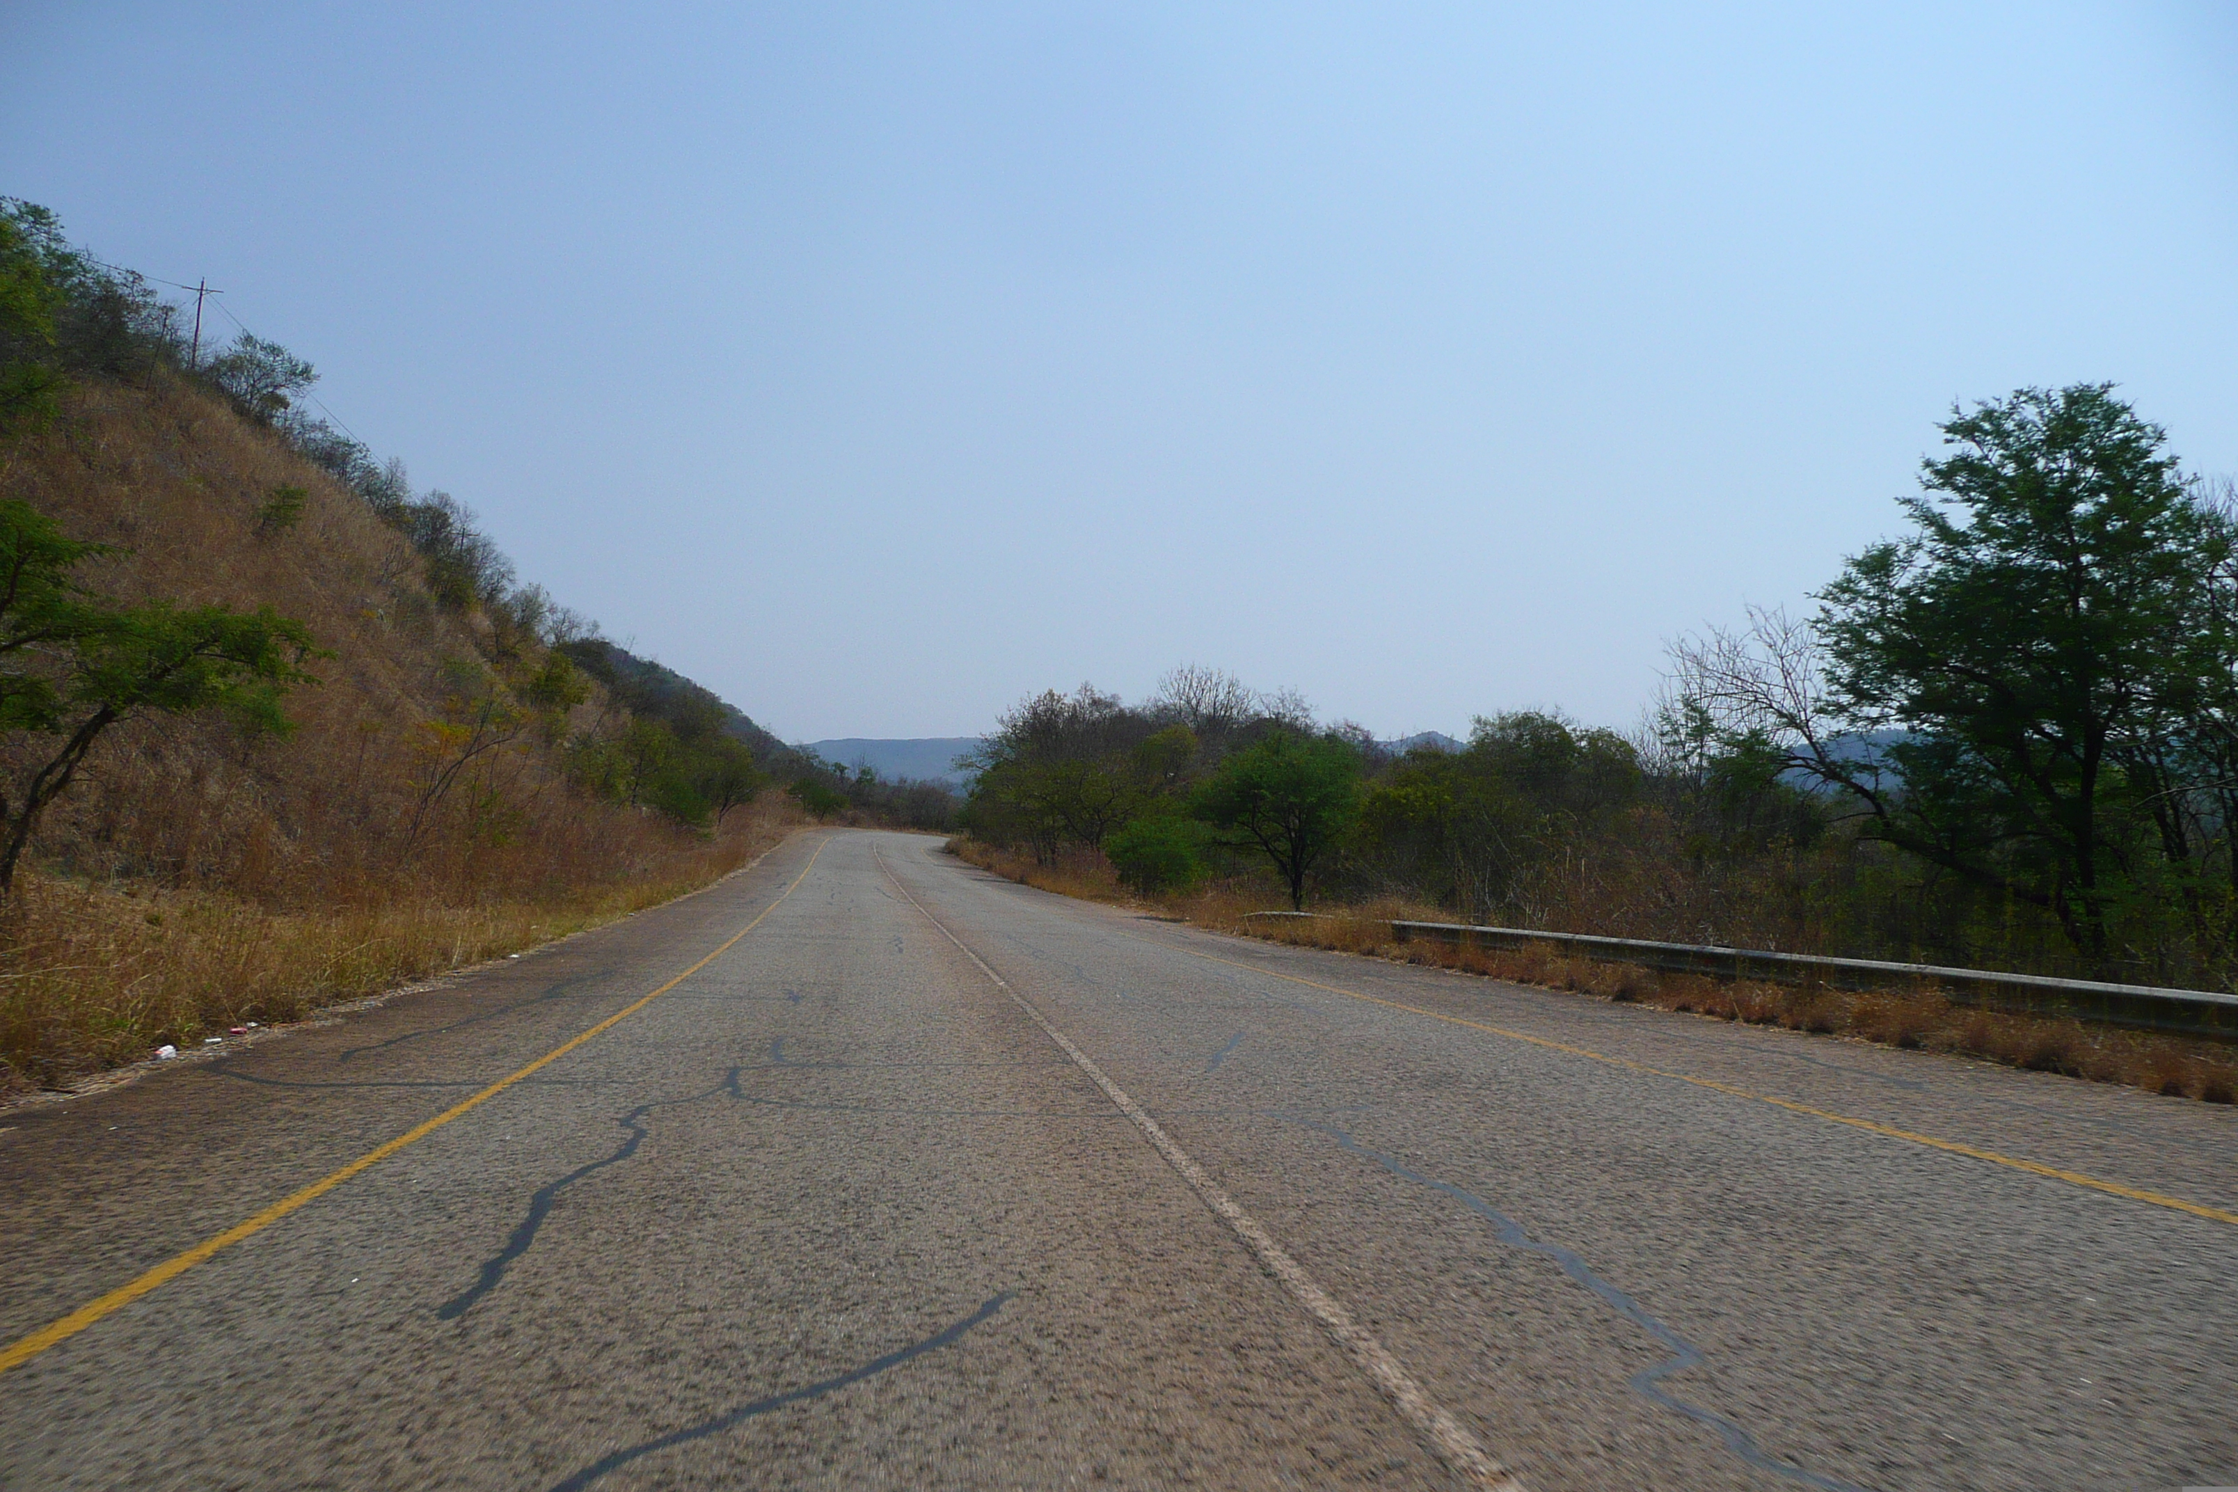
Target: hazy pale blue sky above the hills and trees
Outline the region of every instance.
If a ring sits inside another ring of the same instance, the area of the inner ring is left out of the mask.
[[[788,738],[1627,725],[1954,398],[2238,470],[2234,16],[7,4],[0,192]]]

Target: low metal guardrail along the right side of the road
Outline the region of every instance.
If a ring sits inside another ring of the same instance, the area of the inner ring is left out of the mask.
[[[1260,913],[1298,917],[1311,913]],[[1772,984],[1817,984],[1828,989],[1889,989],[1931,984],[1958,1004],[2075,1016],[2140,1031],[2175,1031],[2238,1040],[2238,995],[2211,989],[2160,989],[2153,984],[2099,984],[2097,980],[2048,980],[1990,969],[1945,969],[1940,964],[1889,964],[1866,957],[1822,957],[1815,953],[1770,953],[1764,948],[1717,948],[1665,944],[1640,937],[1593,937],[1589,933],[1542,933],[1535,928],[1477,928],[1459,922],[1394,922],[1392,937],[1408,942],[1466,942],[1486,948],[1555,946],[1618,964],[1665,973],[1701,973],[1714,980],[1766,980]]]

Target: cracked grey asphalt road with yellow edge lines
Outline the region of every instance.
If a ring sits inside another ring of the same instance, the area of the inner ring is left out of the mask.
[[[0,1197],[11,1490],[2238,1483],[2231,1109],[906,834],[0,1114]]]

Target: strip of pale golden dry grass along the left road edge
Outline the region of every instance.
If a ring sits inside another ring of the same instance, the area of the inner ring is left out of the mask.
[[[427,895],[275,910],[224,890],[27,872],[0,922],[0,1096],[60,1087],[251,1020],[300,1020],[698,890],[801,821],[788,799],[768,796],[732,814],[714,841],[537,899]]]

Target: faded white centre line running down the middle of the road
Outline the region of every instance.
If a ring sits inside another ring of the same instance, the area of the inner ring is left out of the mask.
[[[1260,1264],[1264,1264],[1267,1271],[1282,1282],[1298,1304],[1305,1306],[1332,1338],[1336,1338],[1336,1344],[1352,1353],[1352,1360],[1363,1373],[1367,1373],[1370,1382],[1383,1389],[1383,1396],[1399,1407],[1399,1414],[1403,1414],[1417,1432],[1430,1438],[1439,1456],[1446,1458],[1446,1465],[1461,1472],[1479,1488],[1486,1488],[1486,1492],[1524,1492],[1524,1485],[1515,1481],[1506,1467],[1493,1461],[1491,1454],[1486,1454],[1477,1436],[1468,1434],[1468,1429],[1464,1429],[1444,1405],[1430,1398],[1430,1394],[1414,1382],[1412,1373],[1399,1364],[1399,1358],[1390,1356],[1372,1331],[1352,1320],[1352,1313],[1345,1311],[1334,1295],[1323,1291],[1314,1277],[1305,1273],[1305,1266],[1289,1257],[1289,1253],[1273,1241],[1273,1235],[1267,1233],[1258,1219],[1244,1212],[1217,1181],[1213,1181],[1211,1172],[1197,1165],[1186,1150],[1175,1145],[1173,1136],[1166,1134],[1166,1130],[1162,1130],[1139,1103],[1126,1096],[1126,1089],[1106,1078],[1103,1069],[1088,1060],[1088,1054],[1074,1047],[1070,1036],[1052,1027],[1041,1011],[1027,1004],[1025,998],[1021,998],[1018,991],[1003,980],[1003,975],[989,969],[987,960],[967,948],[956,933],[949,933],[940,917],[933,917],[922,901],[911,897],[909,888],[902,886],[902,879],[893,875],[884,854],[877,854],[877,850],[873,850],[873,854],[877,857],[877,868],[884,870],[886,879],[893,881],[893,888],[902,893],[902,899],[915,906],[927,922],[940,928],[940,935],[956,944],[967,960],[978,964],[978,971],[994,980],[994,986],[1009,995],[1009,1002],[1025,1011],[1025,1016],[1041,1027],[1043,1036],[1056,1042],[1056,1047],[1072,1058],[1072,1065],[1085,1071],[1121,1114],[1135,1121],[1135,1127],[1144,1132],[1144,1139],[1148,1139],[1150,1145],[1166,1156],[1168,1165],[1182,1172],[1182,1179],[1188,1181],[1197,1197],[1202,1197],[1204,1203],[1220,1215],[1220,1221],[1224,1221],[1235,1237],[1240,1237],[1244,1246],[1258,1255]]]

